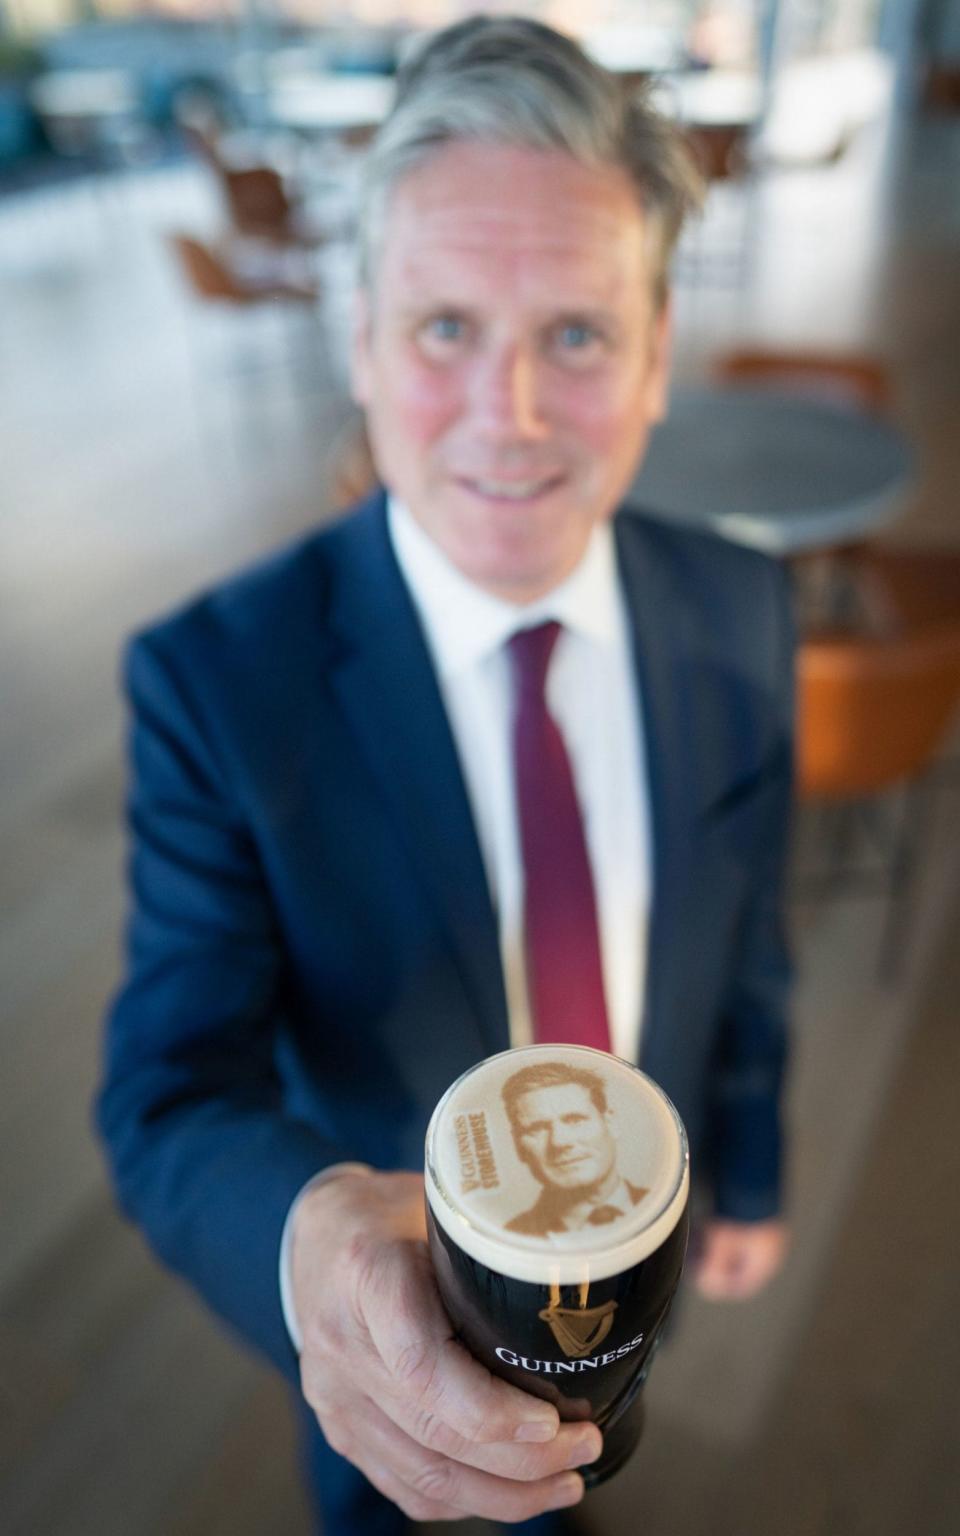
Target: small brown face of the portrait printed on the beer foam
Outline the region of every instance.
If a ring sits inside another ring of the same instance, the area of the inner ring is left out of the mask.
[[[616,1161],[610,1114],[596,1107],[582,1083],[558,1083],[521,1094],[513,1134],[521,1157],[541,1184],[558,1189],[574,1192],[601,1184]]]

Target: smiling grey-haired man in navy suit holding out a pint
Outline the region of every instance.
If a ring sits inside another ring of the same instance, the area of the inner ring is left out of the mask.
[[[687,1120],[700,1283],[782,1253],[783,584],[613,518],[691,197],[568,40],[441,34],[369,161],[353,379],[389,501],[129,653],[100,1124],[158,1255],[300,1382],[327,1536],[565,1508],[601,1450],[481,1370],[432,1283],[404,1170],[482,1055],[590,1014]]]

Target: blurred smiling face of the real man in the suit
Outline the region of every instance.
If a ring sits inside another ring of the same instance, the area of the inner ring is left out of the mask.
[[[355,396],[387,487],[508,601],[570,574],[664,415],[650,249],[627,175],[561,152],[452,144],[393,192]]]

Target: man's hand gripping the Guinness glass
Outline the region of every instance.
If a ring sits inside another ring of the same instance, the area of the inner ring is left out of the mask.
[[[415,1521],[522,1521],[579,1502],[594,1424],[492,1376],[453,1338],[415,1174],[343,1174],[293,1218],[303,1392],[341,1456]]]

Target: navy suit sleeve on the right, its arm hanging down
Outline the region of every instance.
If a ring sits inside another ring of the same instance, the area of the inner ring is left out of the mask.
[[[776,1217],[783,1200],[782,1092],[791,963],[785,880],[793,806],[794,634],[786,578],[770,564],[765,651],[771,731],[756,788],[756,857],[711,1072],[714,1207],[733,1221]]]

